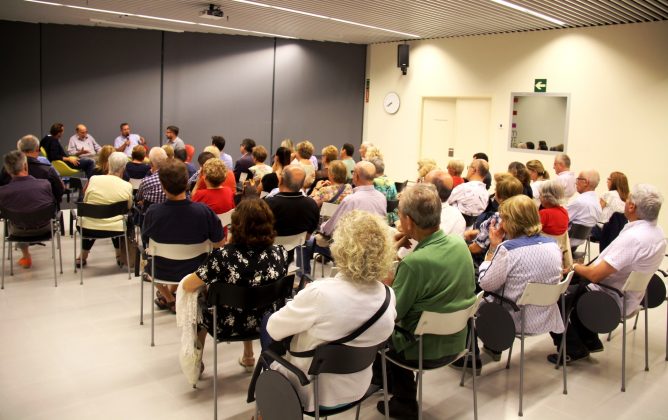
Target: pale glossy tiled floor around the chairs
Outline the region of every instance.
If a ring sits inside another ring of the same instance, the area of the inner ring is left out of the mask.
[[[34,248],[32,269],[16,266],[13,277],[7,270],[0,292],[0,419],[211,418],[211,342],[203,379],[192,389],[178,364],[175,317],[156,312],[156,346],[150,347],[148,287],[147,322],[140,326],[138,278],[128,280],[116,266],[111,241],[96,243],[80,286],[72,270],[72,239],[63,239],[65,267],[58,288],[53,287],[48,248]],[[568,370],[568,395],[561,392],[561,371],[545,361],[552,351],[549,336],[529,338],[524,417],[668,418],[665,304],[650,311],[649,372],[643,370],[642,332],[641,323],[628,334],[626,393],[620,392],[619,331],[603,353]],[[502,363],[485,364],[478,380],[481,419],[517,417],[518,350],[510,370]],[[237,365],[240,353],[240,344],[219,346],[221,418],[250,419],[254,412],[245,402],[250,375]],[[458,372],[429,372],[424,389],[426,419],[473,417],[471,381],[459,387]],[[362,418],[382,418],[375,410],[379,399],[364,404]],[[338,416],[353,417],[354,411]]]

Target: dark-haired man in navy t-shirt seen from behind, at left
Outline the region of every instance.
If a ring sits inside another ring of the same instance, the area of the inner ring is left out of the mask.
[[[158,172],[160,185],[165,190],[167,201],[152,205],[144,216],[142,240],[145,244],[149,239],[163,244],[199,244],[211,241],[214,248],[223,240],[223,228],[218,216],[204,203],[194,203],[186,198],[188,172],[183,162],[171,159],[166,161]],[[204,261],[207,254],[188,260],[168,260],[155,257],[155,275],[161,280],[178,283],[188,273],[192,273]],[[143,274],[150,279],[151,268],[146,267]],[[172,294],[174,286],[156,284],[159,296],[155,304],[160,309],[174,312],[175,299]]]

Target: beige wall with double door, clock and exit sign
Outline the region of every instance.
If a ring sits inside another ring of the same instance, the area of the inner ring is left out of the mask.
[[[597,169],[599,192],[619,170],[631,184],[652,183],[668,195],[668,22],[415,41],[406,76],[396,45],[368,49],[363,133],[382,148],[394,179],[416,177],[424,97],[491,98],[489,142],[472,138],[455,158],[468,162],[479,150],[494,172],[513,160],[551,168],[552,155],[508,150],[510,92],[531,92],[534,79],[546,78],[548,92],[571,94],[573,170]],[[401,97],[395,115],[382,109],[388,91]],[[660,221],[668,232],[668,205]]]

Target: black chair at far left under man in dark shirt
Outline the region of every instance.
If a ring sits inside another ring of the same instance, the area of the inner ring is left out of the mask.
[[[29,213],[13,212],[7,209],[2,209],[0,211],[1,211],[1,217],[5,219],[5,229],[4,229],[5,233],[3,235],[3,240],[2,240],[2,287],[0,287],[0,289],[5,288],[5,248],[7,242],[10,243],[9,250],[7,251],[9,253],[8,256],[9,275],[13,276],[14,260],[12,255],[12,246],[11,246],[12,242],[34,243],[34,242],[50,241],[51,258],[53,259],[53,284],[55,287],[58,287],[58,275],[56,274],[56,246],[58,247],[58,257],[60,260],[60,274],[63,274],[63,255],[62,255],[62,250],[60,248],[60,222],[59,222],[62,215],[60,211],[56,211],[55,204]],[[51,231],[30,236],[9,234],[9,229],[8,229],[9,223],[15,223],[17,225],[30,225],[30,223],[34,222],[35,220],[49,220]],[[57,245],[54,242],[54,238],[55,241],[57,241]]]

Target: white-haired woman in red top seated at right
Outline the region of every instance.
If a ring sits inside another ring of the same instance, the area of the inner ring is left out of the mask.
[[[568,240],[568,211],[562,207],[564,187],[557,180],[546,180],[540,184],[539,200],[541,209],[538,211],[543,235],[557,241],[562,253],[564,272],[573,264],[571,245]]]

